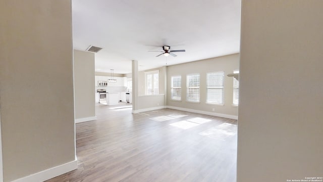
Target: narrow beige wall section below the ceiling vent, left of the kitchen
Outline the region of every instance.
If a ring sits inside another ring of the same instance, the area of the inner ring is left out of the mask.
[[[74,50],[75,119],[95,117],[94,53]]]

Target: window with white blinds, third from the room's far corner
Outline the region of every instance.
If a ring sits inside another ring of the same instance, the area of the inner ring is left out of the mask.
[[[206,103],[223,104],[224,72],[206,73]]]

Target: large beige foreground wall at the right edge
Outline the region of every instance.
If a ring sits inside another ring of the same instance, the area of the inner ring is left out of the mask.
[[[323,175],[323,1],[242,1],[237,181]]]

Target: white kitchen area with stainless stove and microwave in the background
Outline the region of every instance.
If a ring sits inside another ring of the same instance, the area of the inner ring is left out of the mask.
[[[118,105],[132,103],[132,85],[127,77],[97,76],[95,75],[95,103],[104,105]],[[129,85],[128,85],[129,84]]]

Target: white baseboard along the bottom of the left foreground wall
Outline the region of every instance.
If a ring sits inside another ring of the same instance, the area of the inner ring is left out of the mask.
[[[61,174],[70,172],[72,170],[77,169],[77,159],[75,158],[74,161],[55,166],[16,180],[12,182],[34,182],[34,181],[45,181],[51,179],[53,177],[59,176]]]

